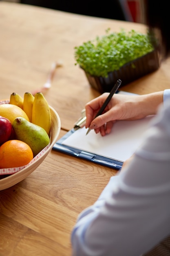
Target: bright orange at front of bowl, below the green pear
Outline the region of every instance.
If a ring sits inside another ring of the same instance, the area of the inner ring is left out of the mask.
[[[33,159],[33,151],[23,141],[13,139],[0,146],[0,168],[20,167]]]

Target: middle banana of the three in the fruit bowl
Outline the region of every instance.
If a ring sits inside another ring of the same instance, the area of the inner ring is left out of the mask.
[[[29,117],[30,122],[32,122],[33,101],[34,101],[33,94],[31,94],[31,92],[25,92],[23,110],[26,113],[26,115]]]

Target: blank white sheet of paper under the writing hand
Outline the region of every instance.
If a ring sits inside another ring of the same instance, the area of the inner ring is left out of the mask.
[[[62,144],[121,162],[126,161],[141,144],[152,116],[135,121],[117,121],[110,134],[102,137],[85,127],[75,131]]]

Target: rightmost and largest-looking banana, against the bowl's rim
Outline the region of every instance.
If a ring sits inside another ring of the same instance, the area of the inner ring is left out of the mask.
[[[42,92],[37,92],[34,96],[32,123],[44,128],[48,135],[50,134],[51,113],[49,104]]]

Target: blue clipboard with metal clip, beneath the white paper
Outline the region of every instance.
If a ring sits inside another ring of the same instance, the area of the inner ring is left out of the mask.
[[[76,130],[74,128],[71,129],[70,131],[68,131],[61,139],[59,139],[54,144],[52,149],[56,150],[56,151],[59,151],[59,152],[62,152],[62,153],[65,153],[67,155],[71,155],[71,156],[74,156],[74,157],[79,157],[79,158],[91,161],[95,164],[100,164],[100,165],[107,166],[107,167],[110,167],[110,168],[114,168],[114,169],[117,169],[117,170],[119,170],[122,167],[123,162],[119,162],[117,160],[110,159],[108,157],[103,157],[103,156],[100,156],[100,155],[96,155],[96,154],[93,154],[93,153],[90,153],[90,152],[86,152],[86,151],[79,150],[77,148],[72,148],[70,146],[66,146],[66,145],[62,144],[63,141],[66,138],[68,138],[69,136],[71,136],[73,134],[73,132],[76,132]]]

